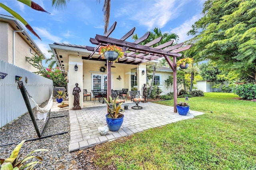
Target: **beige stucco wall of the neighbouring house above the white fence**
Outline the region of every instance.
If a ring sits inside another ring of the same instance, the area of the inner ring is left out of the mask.
[[[0,59],[5,62],[13,64],[13,28],[7,22],[0,22]],[[33,48],[32,53],[36,53]],[[15,65],[24,68],[30,72],[35,72],[31,64],[26,62],[26,56],[32,56],[30,54],[30,45],[24,41],[24,39],[15,32]]]

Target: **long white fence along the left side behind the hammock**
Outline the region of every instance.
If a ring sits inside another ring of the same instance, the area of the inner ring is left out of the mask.
[[[3,60],[0,60],[0,72],[8,74],[4,79],[0,78],[0,128],[28,112],[15,76],[22,77],[21,80],[26,90],[38,104],[45,102],[52,94],[53,83],[48,78],[6,63]],[[25,82],[26,78],[27,83]],[[35,105],[31,100],[30,104],[34,108]]]

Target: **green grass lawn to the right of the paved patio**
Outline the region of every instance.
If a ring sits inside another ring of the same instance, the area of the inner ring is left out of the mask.
[[[119,170],[256,170],[256,102],[237,97],[189,98],[190,109],[205,114],[102,144],[94,163]],[[173,100],[157,103],[173,106]]]

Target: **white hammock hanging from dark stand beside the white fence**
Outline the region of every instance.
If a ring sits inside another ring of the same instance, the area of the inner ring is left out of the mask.
[[[53,104],[52,97],[53,97],[53,93],[52,93],[52,95],[51,95],[50,98],[49,98],[48,104],[47,104],[46,106],[44,106],[43,108],[40,108],[40,107],[39,107],[39,104],[37,104],[36,101],[35,101],[32,97],[29,98],[29,99],[32,100],[32,102],[33,102],[33,103],[35,104],[35,106],[36,106],[36,109],[37,109],[37,111],[38,111],[38,112],[37,112],[37,118],[38,118],[39,120],[42,120],[42,119],[44,119],[44,121],[46,120],[47,113],[48,113],[48,111],[52,108],[52,104]]]

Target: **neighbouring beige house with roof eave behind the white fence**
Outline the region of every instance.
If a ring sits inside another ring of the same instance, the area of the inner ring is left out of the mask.
[[[43,53],[22,24],[12,16],[0,14],[0,30],[0,59],[35,72],[36,68],[26,62],[26,56],[40,56]]]

